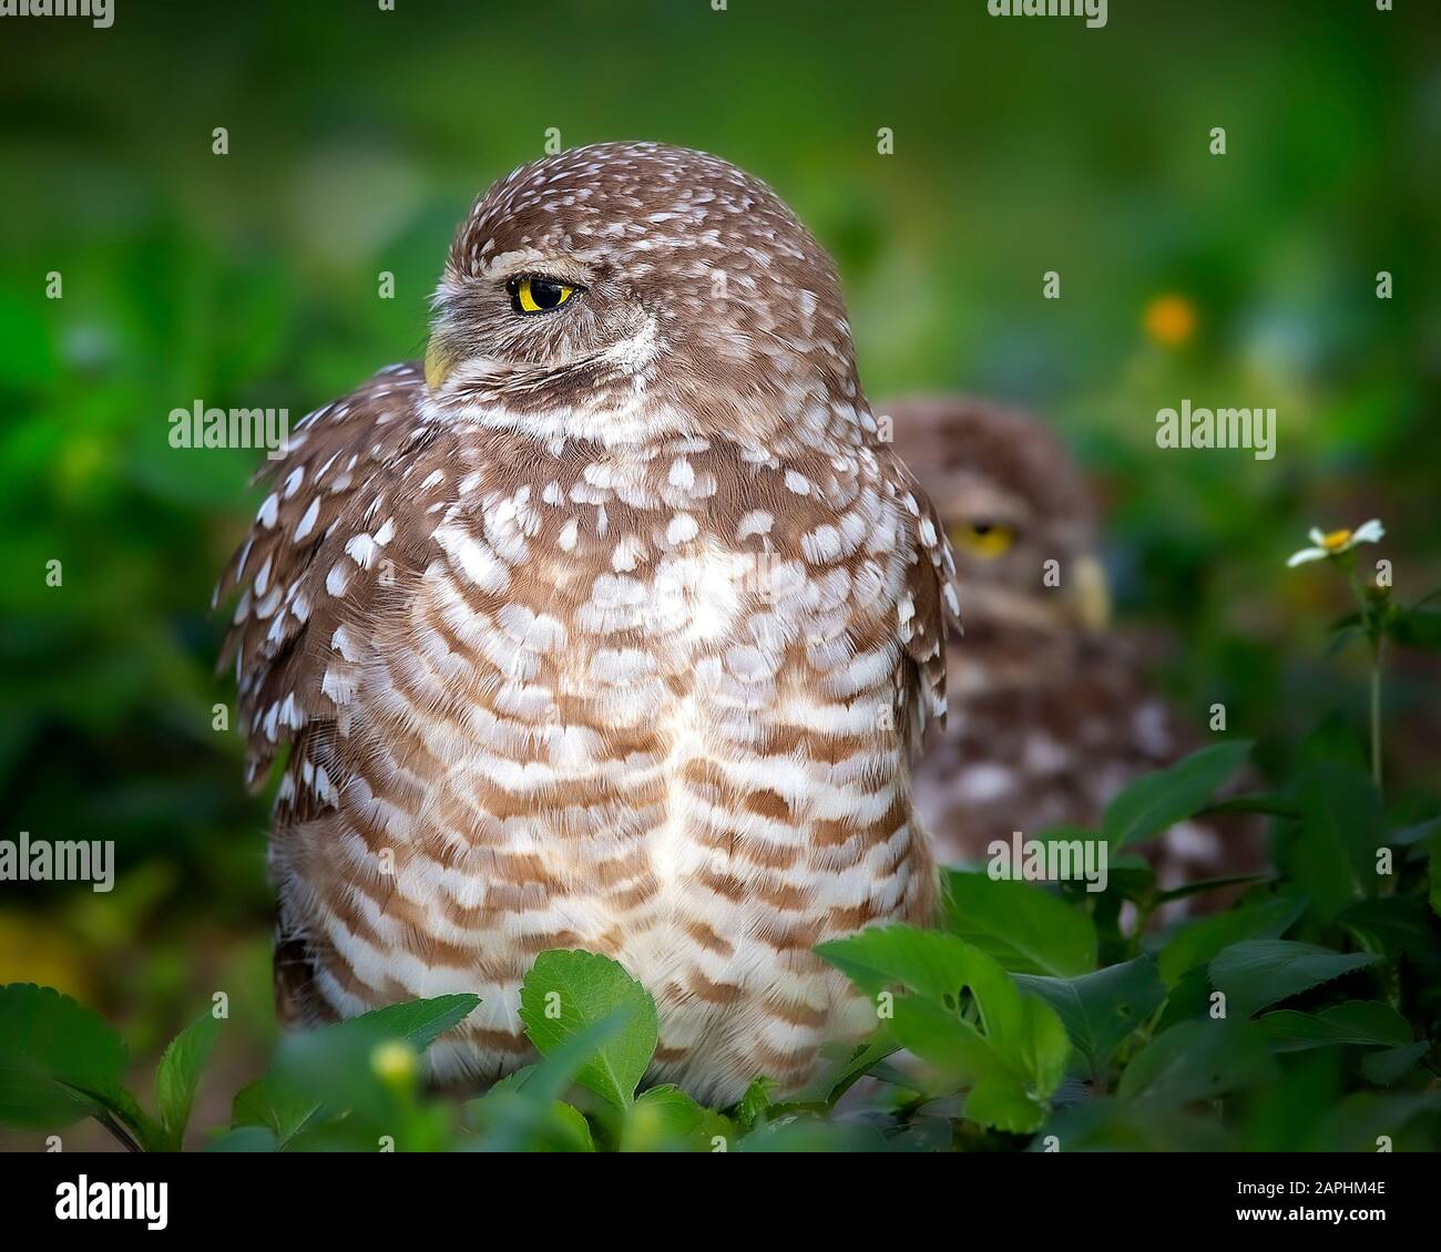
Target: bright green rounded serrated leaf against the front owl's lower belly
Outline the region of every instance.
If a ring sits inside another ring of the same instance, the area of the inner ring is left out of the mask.
[[[542,1055],[611,1013],[623,1014],[620,1033],[581,1065],[575,1081],[624,1109],[656,1052],[650,993],[610,957],[558,949],[536,957],[520,987],[520,1020]]]

